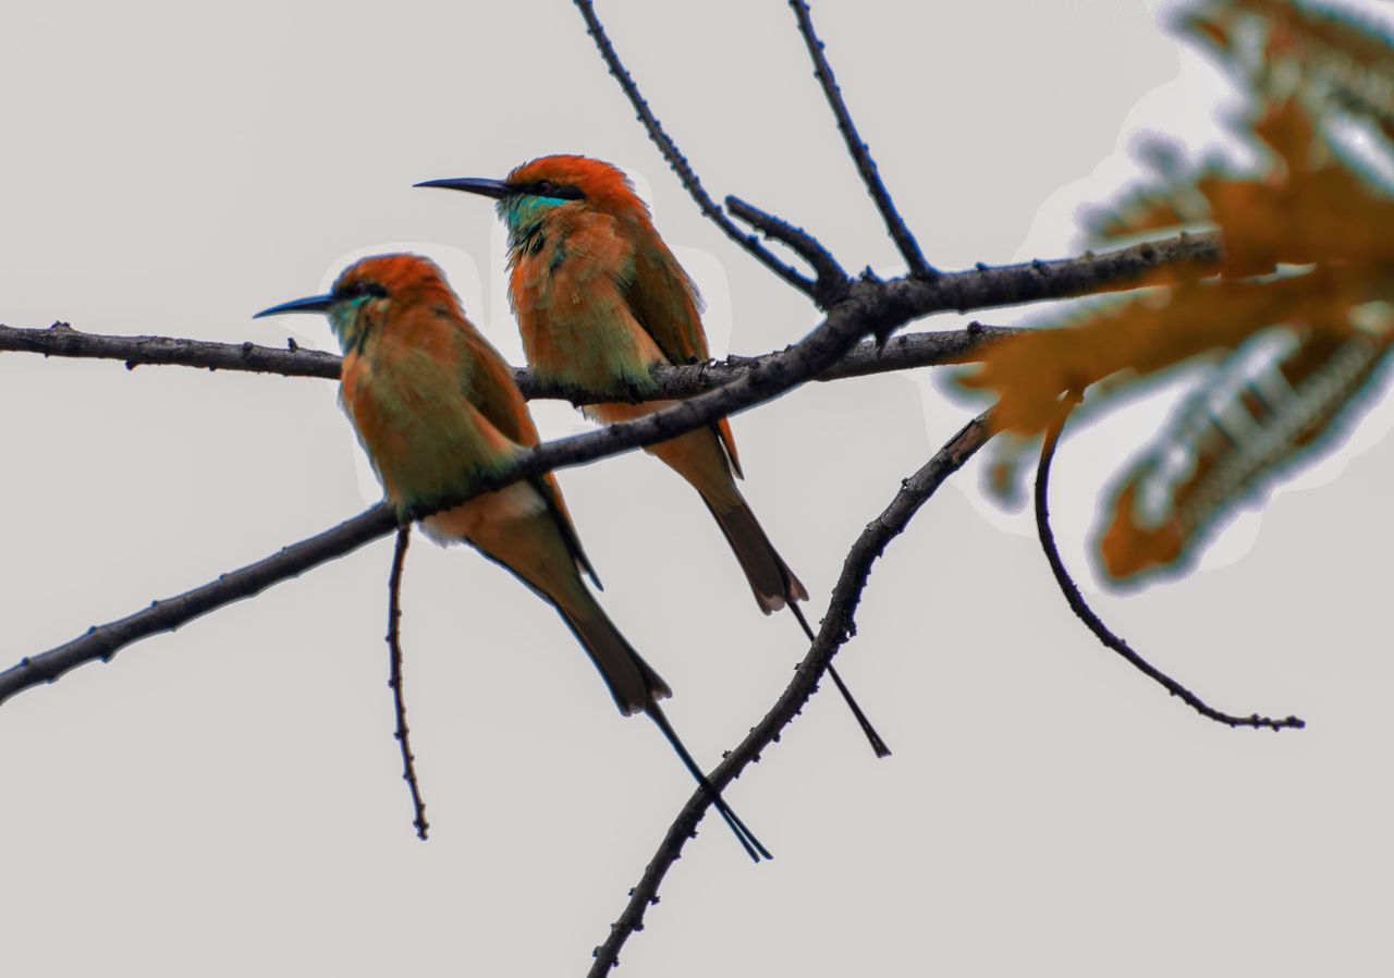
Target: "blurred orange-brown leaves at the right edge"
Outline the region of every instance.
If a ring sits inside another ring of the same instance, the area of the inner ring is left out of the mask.
[[[995,493],[1019,493],[1041,432],[1085,391],[1097,412],[1188,369],[1189,390],[1107,497],[1097,545],[1115,581],[1184,570],[1236,504],[1316,457],[1377,387],[1394,340],[1394,43],[1288,0],[1214,0],[1181,31],[1248,95],[1256,173],[1146,150],[1157,183],[1096,210],[1098,244],[1203,226],[1223,259],[1163,272],[1004,341],[960,378],[999,397]]]

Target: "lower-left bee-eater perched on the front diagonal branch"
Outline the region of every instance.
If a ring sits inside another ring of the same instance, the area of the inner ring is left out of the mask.
[[[322,312],[344,359],[340,398],[403,524],[467,495],[538,443],[513,371],[466,319],[432,262],[381,255],[350,266],[328,295],[258,316]],[[556,478],[514,482],[422,521],[441,543],[466,541],[503,564],[555,607],[581,642],[626,716],[647,713],[757,862],[771,858],[707,780],[658,701],[672,690],[591,596],[595,581]]]

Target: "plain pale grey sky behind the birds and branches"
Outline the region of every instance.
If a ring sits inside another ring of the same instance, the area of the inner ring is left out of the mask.
[[[927,256],[960,269],[1076,254],[1075,205],[1128,180],[1133,132],[1214,130],[1225,89],[1160,13],[825,1],[814,20]],[[785,4],[599,14],[714,195],[806,226],[849,267],[896,270]],[[290,322],[251,313],[406,242],[450,259],[507,348],[489,206],[411,184],[549,152],[636,174],[722,348],[781,348],[817,322],[698,216],[563,0],[29,4],[6,20],[10,326],[283,344]],[[813,619],[849,543],[966,417],[920,373],[804,387],[735,422],[746,492]],[[3,354],[0,410],[0,665],[376,499],[325,380]],[[579,421],[544,417],[553,433]],[[1093,493],[1138,437],[1061,450],[1057,534],[1080,571]],[[728,793],[778,858],[751,867],[710,819],[619,974],[1387,968],[1394,444],[1363,443],[1310,479],[1324,485],[1278,495],[1262,532],[1242,522],[1227,566],[1097,596],[1214,705],[1310,723],[1277,736],[1199,719],[1122,666],[1034,542],[974,515],[976,476],[956,476],[877,564],[838,659],[895,756],[871,758],[831,687],[815,697]],[[658,463],[560,478],[605,606],[715,761],[806,651],[795,623],[758,613]],[[0,706],[6,974],[588,967],[691,783],[648,723],[618,716],[552,612],[477,554],[418,539],[418,841],[385,684],[389,557],[378,542]]]

